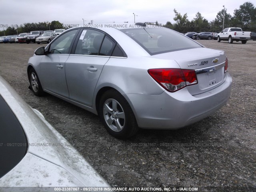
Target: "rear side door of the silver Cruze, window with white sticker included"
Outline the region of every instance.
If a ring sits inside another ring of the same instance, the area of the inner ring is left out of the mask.
[[[94,90],[115,43],[99,30],[84,29],[66,61],[70,100],[92,106]],[[111,76],[111,74],[110,74]]]

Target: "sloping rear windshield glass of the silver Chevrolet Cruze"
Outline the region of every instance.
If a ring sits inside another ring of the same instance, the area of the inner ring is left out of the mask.
[[[121,29],[150,55],[200,48],[200,44],[186,36],[164,27]]]

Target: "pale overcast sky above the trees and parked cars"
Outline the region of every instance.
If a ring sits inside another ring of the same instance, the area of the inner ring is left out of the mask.
[[[248,0],[256,6],[256,0]],[[0,0],[0,30],[24,23],[59,21],[64,25],[99,23],[174,23],[174,8],[192,20],[200,12],[209,22],[223,9],[233,16],[246,0]],[[84,20],[83,20],[84,19]]]

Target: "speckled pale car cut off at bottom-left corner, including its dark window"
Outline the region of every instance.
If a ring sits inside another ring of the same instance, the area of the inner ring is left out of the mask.
[[[24,187],[109,187],[83,156],[1,76],[0,106],[1,191],[38,191]]]

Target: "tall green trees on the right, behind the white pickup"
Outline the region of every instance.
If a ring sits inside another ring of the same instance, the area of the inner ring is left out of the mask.
[[[256,8],[251,2],[245,2],[239,6],[239,9],[235,9],[234,16],[227,13],[227,9],[224,8],[219,11],[216,18],[210,22],[204,18],[200,12],[197,12],[195,18],[189,21],[187,13],[182,15],[174,9],[175,17],[173,20],[175,23],[172,24],[168,21],[163,26],[181,33],[203,31],[220,32],[223,28],[223,13],[224,28],[239,27],[242,28],[243,31],[256,31]]]

